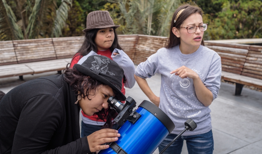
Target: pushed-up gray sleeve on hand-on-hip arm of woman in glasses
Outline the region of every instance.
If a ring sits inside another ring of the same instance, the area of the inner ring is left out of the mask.
[[[148,59],[145,62],[141,62],[136,70],[135,75],[139,76],[140,78],[151,78],[156,73],[158,73],[158,55],[159,50],[148,57]]]

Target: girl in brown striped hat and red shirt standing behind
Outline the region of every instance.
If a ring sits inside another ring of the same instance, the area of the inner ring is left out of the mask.
[[[134,63],[118,44],[115,29],[120,25],[114,25],[108,11],[93,11],[87,15],[85,40],[82,47],[72,58],[70,67],[76,63],[82,64],[90,55],[105,55],[114,60],[124,70],[122,81],[122,93],[125,94],[125,87],[132,88],[135,84]],[[101,119],[96,114],[88,116],[82,112],[81,137],[88,136],[100,130],[107,119]],[[117,125],[113,126],[117,129]]]

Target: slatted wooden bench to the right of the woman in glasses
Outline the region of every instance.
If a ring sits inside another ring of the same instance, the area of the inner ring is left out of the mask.
[[[241,95],[243,85],[262,88],[261,46],[215,42],[206,42],[206,46],[220,55],[221,79],[236,83],[236,96]]]

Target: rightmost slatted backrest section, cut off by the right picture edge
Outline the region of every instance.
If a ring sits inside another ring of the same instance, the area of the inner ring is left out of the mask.
[[[262,79],[262,46],[250,46],[241,75]]]

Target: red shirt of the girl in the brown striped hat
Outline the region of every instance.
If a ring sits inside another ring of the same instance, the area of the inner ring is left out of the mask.
[[[111,58],[111,55],[112,55],[112,52],[110,51],[110,49],[107,49],[105,51],[101,51],[101,50],[97,50],[97,54],[98,55],[104,55],[110,59]],[[72,68],[75,64],[77,64],[77,62],[82,58],[83,56],[80,54],[80,53],[76,53],[74,55],[74,57],[72,58],[72,61],[71,61],[71,64],[70,64],[70,68]],[[113,60],[113,59],[112,59]],[[121,92],[123,94],[125,94],[125,88],[124,88],[124,79],[122,79],[122,89],[121,89]],[[100,122],[103,122],[103,120],[101,119],[98,119],[98,116],[97,115],[92,115],[92,116],[88,116],[86,114],[84,114],[84,112],[81,110],[82,114],[84,117],[88,118],[88,119],[91,119],[93,121],[100,121]],[[106,121],[106,119],[104,119]]]

